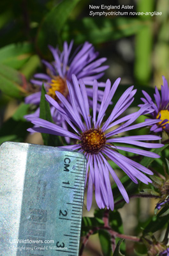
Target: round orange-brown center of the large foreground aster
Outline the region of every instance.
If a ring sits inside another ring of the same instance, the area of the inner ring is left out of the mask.
[[[87,153],[97,154],[105,144],[105,132],[101,129],[92,128],[82,133],[81,146]]]

